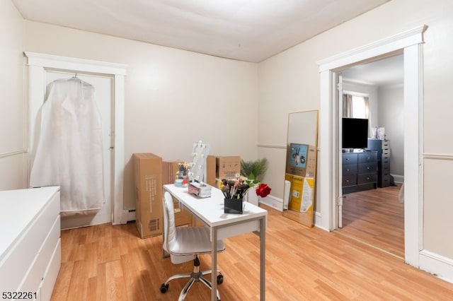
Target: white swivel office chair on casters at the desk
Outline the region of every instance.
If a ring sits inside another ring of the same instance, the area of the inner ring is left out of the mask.
[[[211,253],[210,230],[206,227],[176,227],[175,212],[173,208],[173,198],[166,191],[164,193],[164,250],[170,254],[173,264],[182,264],[193,260],[193,272],[181,273],[171,276],[165,283],[161,284],[161,293],[168,291],[169,282],[178,278],[190,278],[179,295],[178,301],[184,300],[185,295],[192,287],[193,283],[200,281],[208,288],[212,289],[210,281],[203,275],[212,273],[212,270],[200,271],[200,260],[198,254]],[[225,245],[222,240],[217,242],[217,252],[223,252]],[[220,271],[217,276],[217,283],[223,282],[223,275]],[[217,290],[217,300],[220,300],[219,290]]]

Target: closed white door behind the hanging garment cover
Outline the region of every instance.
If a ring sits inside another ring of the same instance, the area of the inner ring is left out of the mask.
[[[113,105],[113,77],[97,76],[81,73],[67,73],[64,71],[45,71],[46,87],[52,81],[59,78],[71,78],[77,76],[82,81],[90,83],[96,88],[95,100],[102,119],[103,135],[103,173],[104,173],[104,201],[103,207],[98,213],[91,215],[62,216],[62,229],[76,228],[85,225],[95,225],[98,223],[110,223],[112,220],[112,105]],[[47,88],[46,88],[47,98]]]

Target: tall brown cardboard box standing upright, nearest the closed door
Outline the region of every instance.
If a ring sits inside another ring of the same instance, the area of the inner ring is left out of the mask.
[[[140,237],[162,234],[162,158],[134,153],[135,223]]]

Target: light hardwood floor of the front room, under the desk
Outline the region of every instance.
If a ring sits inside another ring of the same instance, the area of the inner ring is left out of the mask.
[[[266,300],[453,300],[453,284],[404,264],[396,256],[319,228],[306,228],[272,208],[266,232]],[[222,300],[259,300],[259,239],[225,240],[219,254]],[[161,236],[142,240],[134,223],[62,231],[62,266],[52,301],[177,300],[185,280],[159,287],[192,263],[162,258]],[[209,268],[210,256],[202,256]],[[186,300],[210,300],[195,283]]]

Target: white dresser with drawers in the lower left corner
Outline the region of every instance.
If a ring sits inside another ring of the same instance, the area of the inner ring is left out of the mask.
[[[59,211],[59,187],[0,191],[0,297],[50,300],[61,262]]]

